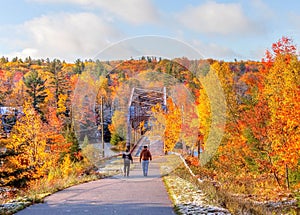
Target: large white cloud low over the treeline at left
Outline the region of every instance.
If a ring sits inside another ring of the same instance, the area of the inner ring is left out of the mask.
[[[60,13],[34,18],[15,26],[26,36],[14,56],[60,58],[74,61],[93,58],[98,51],[120,38],[110,23],[92,13]],[[17,30],[16,30],[17,31]]]

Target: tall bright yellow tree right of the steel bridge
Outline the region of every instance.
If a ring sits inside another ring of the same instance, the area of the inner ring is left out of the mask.
[[[227,63],[213,62],[207,67],[201,62],[198,70],[198,78],[203,89],[200,88],[196,101],[198,104],[201,103],[200,106],[198,105],[199,142],[202,142],[204,149],[200,156],[201,164],[204,165],[213,157],[217,159],[219,145],[226,145],[230,138],[229,131],[227,131],[228,136],[224,136],[224,125],[226,118],[230,117],[229,120],[234,120],[237,117],[234,114],[236,113],[236,100],[232,92],[233,74]],[[199,111],[203,112],[199,113]]]

